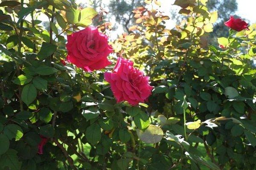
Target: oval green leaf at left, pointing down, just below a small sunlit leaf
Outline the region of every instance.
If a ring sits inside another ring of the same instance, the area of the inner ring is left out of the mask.
[[[33,84],[28,84],[23,87],[23,90],[21,92],[21,100],[26,103],[26,105],[29,105],[32,103],[37,96],[36,88]]]

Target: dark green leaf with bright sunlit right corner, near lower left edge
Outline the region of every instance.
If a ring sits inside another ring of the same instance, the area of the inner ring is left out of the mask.
[[[3,128],[3,133],[12,140],[15,138],[15,141],[20,140],[23,136],[23,130],[20,128],[20,126],[15,124],[8,124]]]

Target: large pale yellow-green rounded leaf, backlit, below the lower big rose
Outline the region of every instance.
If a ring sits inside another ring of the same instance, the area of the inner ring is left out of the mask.
[[[163,138],[163,130],[155,125],[149,125],[148,128],[143,130],[136,129],[139,139],[145,143],[157,143]]]

